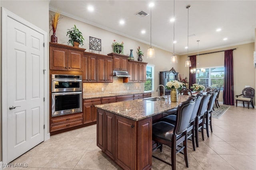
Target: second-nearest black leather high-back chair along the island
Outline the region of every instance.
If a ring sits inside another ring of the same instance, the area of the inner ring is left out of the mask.
[[[195,133],[194,133],[194,129],[195,129],[195,118],[196,118],[196,114],[197,114],[197,111],[198,111],[198,108],[199,108],[199,105],[201,103],[201,100],[202,100],[202,93],[198,93],[196,95],[196,97],[194,97],[195,99],[195,107],[193,109],[193,112],[192,112],[192,115],[190,117],[190,121],[189,121],[189,124],[188,124],[188,128],[187,128],[187,138],[189,139],[191,137],[191,140],[192,140],[192,145],[193,145],[193,149],[196,150],[196,147],[195,147]],[[167,117],[164,117],[162,119],[160,119],[160,121],[164,121],[164,122],[167,122],[167,123],[170,123],[172,125],[175,125],[176,124],[176,115],[170,115],[170,116],[167,116]]]

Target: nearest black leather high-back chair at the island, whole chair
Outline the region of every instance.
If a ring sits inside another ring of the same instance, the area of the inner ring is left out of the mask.
[[[166,162],[154,155],[152,157],[172,166],[172,170],[176,170],[176,154],[183,150],[186,167],[188,167],[187,156],[187,127],[190,121],[192,111],[195,106],[194,97],[180,103],[177,109],[176,125],[159,121],[152,125],[152,140],[158,143],[158,146],[152,150],[154,152],[158,148],[162,152],[163,144],[171,147],[171,163]],[[182,144],[182,146],[179,146]],[[176,150],[176,147],[178,150]]]

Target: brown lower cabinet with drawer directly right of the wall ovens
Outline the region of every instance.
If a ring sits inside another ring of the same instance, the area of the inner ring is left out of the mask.
[[[100,98],[84,99],[84,124],[95,122],[97,120],[97,108],[95,105],[100,105]]]

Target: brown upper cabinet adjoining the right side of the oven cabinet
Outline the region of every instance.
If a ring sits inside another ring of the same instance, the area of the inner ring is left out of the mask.
[[[85,55],[83,57],[83,82],[97,82],[97,56]]]

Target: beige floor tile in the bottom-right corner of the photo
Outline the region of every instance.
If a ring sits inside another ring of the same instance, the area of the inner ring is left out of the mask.
[[[236,170],[255,170],[256,161],[246,155],[220,155]]]

